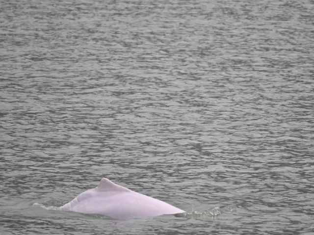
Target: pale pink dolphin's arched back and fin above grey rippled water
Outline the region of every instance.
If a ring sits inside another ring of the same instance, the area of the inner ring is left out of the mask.
[[[163,214],[185,213],[182,209],[134,192],[106,178],[103,178],[97,187],[82,192],[61,209],[103,214],[114,219],[148,218]]]

